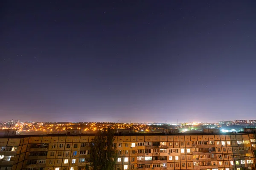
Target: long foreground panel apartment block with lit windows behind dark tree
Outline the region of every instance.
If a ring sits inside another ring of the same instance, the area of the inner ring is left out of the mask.
[[[0,170],[85,170],[93,138],[93,134],[2,137]],[[254,140],[246,133],[119,133],[115,169],[255,170]]]

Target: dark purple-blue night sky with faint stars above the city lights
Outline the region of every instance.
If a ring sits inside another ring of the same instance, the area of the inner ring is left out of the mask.
[[[256,119],[255,0],[1,3],[0,121]]]

